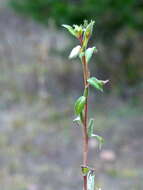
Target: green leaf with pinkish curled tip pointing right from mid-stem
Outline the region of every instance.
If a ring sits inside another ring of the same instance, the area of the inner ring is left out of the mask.
[[[95,77],[91,77],[88,80],[88,83],[93,86],[94,88],[96,88],[97,90],[100,90],[101,92],[103,92],[103,85],[106,84],[109,80],[98,80]]]

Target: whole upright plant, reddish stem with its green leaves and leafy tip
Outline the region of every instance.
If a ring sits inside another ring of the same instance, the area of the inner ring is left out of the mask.
[[[88,69],[87,60],[91,58],[92,54],[96,51],[96,48],[88,48],[88,41],[91,37],[94,21],[91,20],[90,23],[88,21],[84,21],[83,25],[62,25],[65,27],[73,36],[75,36],[79,40],[80,46],[76,46],[71,51],[69,58],[75,58],[79,56],[82,62],[83,67],[83,78],[84,78],[84,94],[83,96],[79,97],[75,104],[75,113],[78,115],[75,121],[80,119],[80,123],[82,123],[82,133],[83,133],[83,167],[82,167],[82,174],[83,174],[83,190],[87,190],[88,188],[88,179],[87,175],[93,173],[94,170],[88,168],[88,141],[89,137],[92,137],[92,125],[89,126],[88,130],[88,91],[89,91],[89,84],[94,86],[99,90],[102,90],[102,85],[106,83],[106,81],[101,81],[96,78],[89,78],[90,72]],[[90,79],[90,80],[88,80]],[[95,80],[95,81],[94,81]],[[89,81],[89,82],[88,82]],[[92,81],[92,82],[91,82]],[[92,84],[93,83],[93,84]],[[99,83],[99,84],[98,84]],[[101,89],[100,89],[101,88]],[[84,107],[83,107],[84,105]],[[83,109],[84,108],[84,109]],[[93,120],[91,120],[93,124]],[[89,132],[89,133],[88,133]],[[94,175],[93,175],[94,177]],[[94,185],[94,181],[93,184]]]

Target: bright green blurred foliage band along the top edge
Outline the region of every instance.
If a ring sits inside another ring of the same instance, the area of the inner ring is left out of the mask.
[[[62,23],[81,23],[96,17],[101,34],[109,34],[124,26],[143,29],[142,0],[10,0],[12,7],[20,13],[47,24],[48,19]],[[109,35],[108,34],[108,35]]]

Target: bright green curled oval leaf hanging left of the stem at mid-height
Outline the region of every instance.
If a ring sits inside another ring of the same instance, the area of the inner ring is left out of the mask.
[[[77,101],[75,102],[75,114],[79,115],[82,110],[84,109],[84,105],[86,103],[86,97],[85,96],[81,96],[77,99]]]

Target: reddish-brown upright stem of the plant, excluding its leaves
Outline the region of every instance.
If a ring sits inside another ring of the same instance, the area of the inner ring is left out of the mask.
[[[85,56],[82,57],[82,65],[83,65],[83,75],[84,75],[84,88],[87,88],[88,91],[88,66],[86,62]],[[86,103],[84,107],[84,121],[83,121],[83,165],[87,166],[88,164],[88,134],[87,134],[87,122],[88,122],[88,93],[86,97]],[[83,177],[84,184],[83,190],[87,190],[87,176]]]

